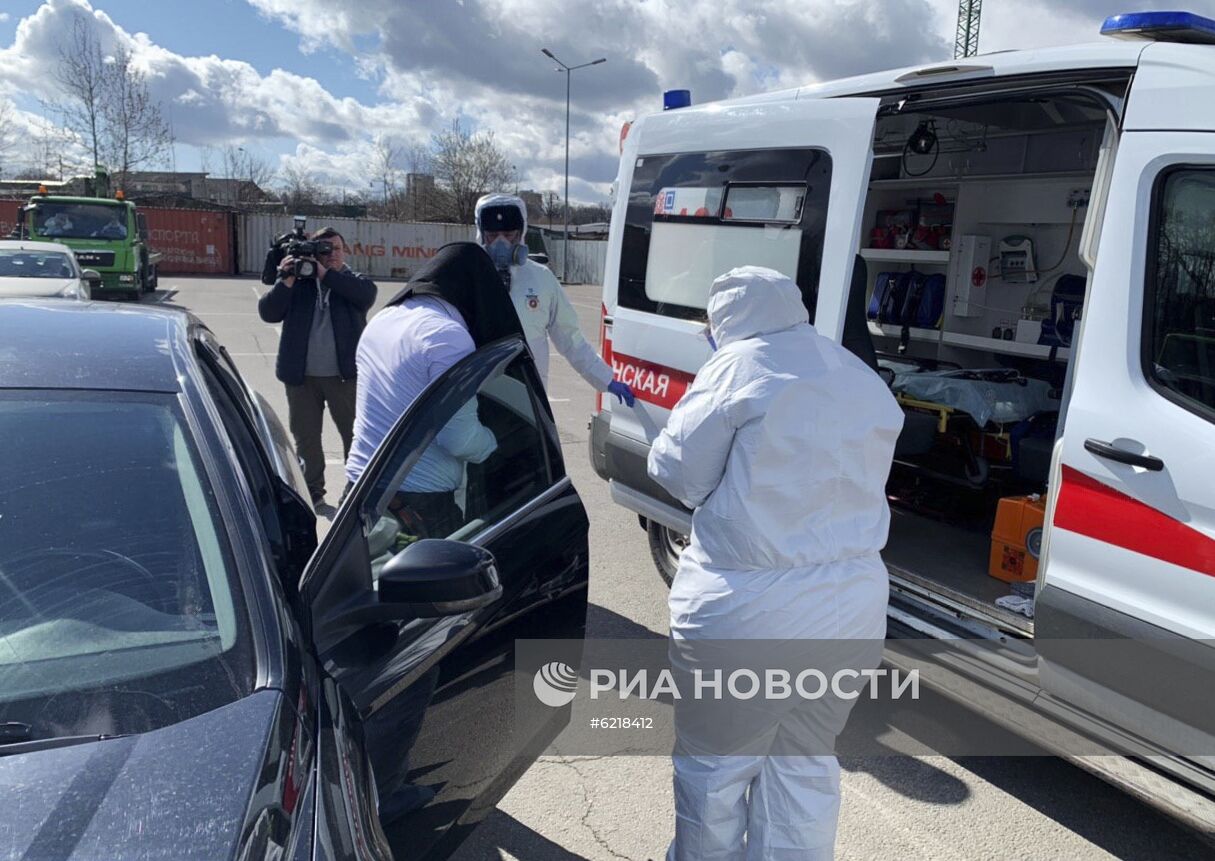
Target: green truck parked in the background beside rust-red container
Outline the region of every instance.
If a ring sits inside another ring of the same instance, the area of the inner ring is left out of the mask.
[[[28,239],[70,248],[80,268],[95,270],[94,299],[139,299],[157,287],[160,254],[148,248],[148,227],[135,204],[114,198],[61,197],[41,193],[22,208],[21,233]]]

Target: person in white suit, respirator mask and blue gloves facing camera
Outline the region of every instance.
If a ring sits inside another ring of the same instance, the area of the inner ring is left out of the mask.
[[[514,194],[486,194],[476,202],[476,239],[488,251],[510,301],[541,379],[548,386],[548,339],[597,391],[633,406],[633,390],[612,379],[612,369],[582,336],[578,316],[547,266],[527,259],[527,206]]]

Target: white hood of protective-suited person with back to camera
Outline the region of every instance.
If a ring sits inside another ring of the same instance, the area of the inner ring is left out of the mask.
[[[775,270],[739,266],[708,291],[708,325],[718,347],[809,322],[802,291]]]

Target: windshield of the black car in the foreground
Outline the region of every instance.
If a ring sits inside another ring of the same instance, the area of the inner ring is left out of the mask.
[[[176,398],[7,392],[0,440],[0,724],[142,732],[247,696],[247,613]]]

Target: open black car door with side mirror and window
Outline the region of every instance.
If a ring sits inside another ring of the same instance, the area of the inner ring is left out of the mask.
[[[347,494],[300,597],[396,857],[443,854],[564,726],[513,726],[514,644],[584,635],[587,531],[519,339],[431,384]]]

